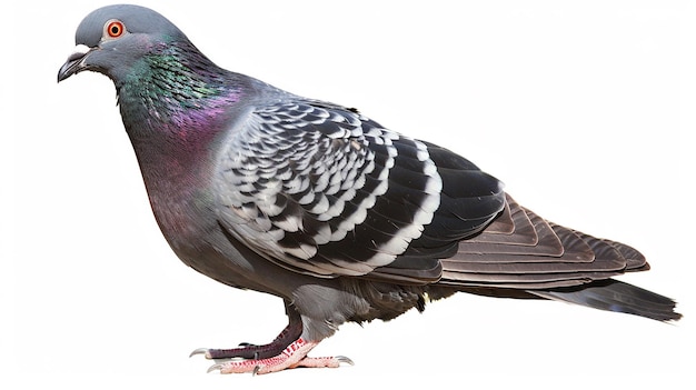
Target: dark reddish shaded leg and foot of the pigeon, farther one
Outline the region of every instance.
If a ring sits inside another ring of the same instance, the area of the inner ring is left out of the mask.
[[[262,346],[241,343],[239,348],[232,349],[207,349],[199,348],[191,352],[190,356],[203,353],[207,359],[229,359],[229,358],[243,358],[243,359],[266,359],[279,356],[288,346],[299,339],[302,333],[302,320],[299,313],[288,307],[286,302],[286,312],[289,318],[288,326],[278,334],[278,337]]]

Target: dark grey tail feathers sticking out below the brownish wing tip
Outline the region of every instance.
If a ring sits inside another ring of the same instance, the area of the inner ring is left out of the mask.
[[[615,279],[553,290],[528,290],[535,296],[581,304],[595,309],[629,313],[658,321],[676,321],[676,302],[653,291]]]

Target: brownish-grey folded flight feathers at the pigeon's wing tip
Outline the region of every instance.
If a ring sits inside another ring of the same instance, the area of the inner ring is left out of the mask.
[[[507,196],[503,214],[443,260],[440,283],[546,290],[645,270],[637,250],[541,219]]]

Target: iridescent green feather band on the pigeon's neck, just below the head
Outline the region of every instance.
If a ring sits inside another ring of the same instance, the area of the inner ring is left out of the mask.
[[[235,73],[217,67],[189,42],[160,44],[117,86],[123,122],[129,131],[210,129],[239,101],[241,87],[236,80]]]

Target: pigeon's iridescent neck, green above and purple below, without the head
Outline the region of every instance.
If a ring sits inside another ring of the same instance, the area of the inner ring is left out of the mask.
[[[141,164],[190,166],[200,159],[249,92],[240,76],[188,41],[153,49],[119,81],[121,118]]]

